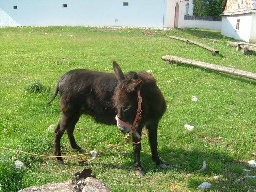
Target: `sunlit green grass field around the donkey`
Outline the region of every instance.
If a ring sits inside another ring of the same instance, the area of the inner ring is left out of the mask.
[[[232,39],[219,33],[66,26],[0,28],[0,146],[52,155],[53,131],[47,127],[60,119],[59,96],[50,106],[46,102],[58,78],[76,68],[112,72],[111,62],[115,59],[124,72],[154,71],[152,74],[167,102],[158,129],[159,155],[167,165],[181,166],[169,170],[155,166],[146,131],[141,151],[146,175],[142,178],[134,174],[130,144],[101,153],[95,160],[89,156],[66,158],[64,167],[57,166],[55,159],[0,150],[0,191],[15,192],[28,186],[72,179],[75,172],[84,168],[92,168],[93,174],[115,192],[195,192],[201,182],[212,183],[208,190],[212,192],[255,190],[255,180],[236,182],[246,173],[234,176],[238,169],[230,167],[247,168],[252,170],[250,175],[256,175],[256,169],[246,163],[253,159],[251,152],[256,150],[256,81],[183,64],[166,66],[160,59],[169,54],[256,72],[256,56],[245,56],[226,46],[225,41]],[[203,42],[218,49],[220,55],[210,56],[207,50],[169,39],[169,35]],[[200,39],[204,36],[223,42],[212,44]],[[40,82],[40,86],[34,82]],[[26,91],[38,87],[44,91]],[[192,96],[199,100],[192,102]],[[184,124],[195,128],[187,131]],[[98,124],[85,115],[76,125],[74,135],[88,151],[124,142],[116,126]],[[66,134],[62,146],[63,155],[78,154],[70,149]],[[127,154],[113,152],[124,150]],[[24,162],[27,169],[17,172],[14,160]],[[89,164],[79,166],[78,160],[87,160]],[[206,171],[186,176],[200,169],[204,160]],[[220,174],[225,179],[216,182],[213,176]]]

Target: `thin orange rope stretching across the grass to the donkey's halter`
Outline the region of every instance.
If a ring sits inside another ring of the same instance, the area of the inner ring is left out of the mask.
[[[82,155],[88,155],[88,154],[92,154],[92,153],[97,153],[97,152],[105,151],[105,150],[112,149],[112,148],[115,148],[115,147],[118,147],[118,146],[122,146],[122,145],[125,145],[125,144],[128,144],[128,143],[140,144],[140,142],[137,142],[137,143],[136,143],[136,142],[133,142],[133,141],[130,139],[130,135],[126,135],[126,136],[123,137],[122,139],[128,139],[128,142],[125,142],[125,143],[122,143],[122,144],[118,144],[118,145],[115,145],[115,146],[112,146],[112,147],[104,148],[104,149],[102,149],[102,150],[98,150],[98,151],[95,151],[95,152],[88,152],[88,153],[77,154],[77,155],[68,155],[68,156],[48,156],[48,155],[40,155],[40,154],[34,154],[34,153],[29,153],[29,152],[25,152],[25,151],[16,150],[16,149],[4,148],[4,147],[0,147],[0,149],[10,150],[10,151],[16,151],[16,152],[26,153],[26,154],[29,154],[29,155],[40,156],[40,157],[49,157],[49,158],[62,157],[62,158],[64,158],[64,157],[75,157],[75,156],[82,156]]]

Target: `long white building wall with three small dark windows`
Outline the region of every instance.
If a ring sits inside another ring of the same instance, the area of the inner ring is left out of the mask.
[[[166,1],[0,0],[0,26],[164,27],[165,19],[170,19],[165,17]],[[123,6],[123,2],[129,2],[129,6]],[[68,7],[63,8],[63,4],[68,4]],[[18,9],[14,9],[14,5],[18,6]],[[182,12],[184,14],[184,10]],[[184,16],[180,16],[181,23],[182,18]]]

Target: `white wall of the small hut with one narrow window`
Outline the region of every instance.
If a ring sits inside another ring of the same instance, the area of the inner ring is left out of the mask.
[[[236,20],[240,19],[240,30],[236,30]],[[255,21],[254,21],[255,22]],[[254,29],[255,29],[254,25]],[[249,42],[252,30],[252,13],[222,16],[221,34]]]

